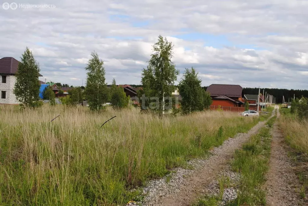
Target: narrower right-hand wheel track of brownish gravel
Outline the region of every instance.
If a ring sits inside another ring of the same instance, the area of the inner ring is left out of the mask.
[[[279,116],[279,109],[277,109],[277,118]],[[294,174],[292,161],[288,158],[288,148],[277,122],[272,129],[272,135],[270,170],[267,173],[265,184],[267,205],[304,205],[303,200],[295,192],[299,191],[301,187]]]

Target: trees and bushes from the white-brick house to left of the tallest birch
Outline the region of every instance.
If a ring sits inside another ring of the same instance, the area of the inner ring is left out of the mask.
[[[107,89],[105,83],[105,69],[103,61],[99,60],[96,52],[91,54],[86,70],[87,72],[87,87],[72,87],[68,91],[67,97],[62,97],[61,101],[65,105],[78,105],[86,98],[92,110],[99,110],[103,105],[110,101],[115,109],[124,108],[129,103],[129,97],[126,97],[124,89],[117,87],[113,80],[111,89]],[[14,85],[14,94],[16,99],[24,107],[35,108],[43,105],[40,101],[40,84],[39,78],[39,63],[34,59],[32,52],[27,47],[22,54],[21,61],[18,64],[18,72],[16,73],[16,83]],[[68,86],[56,83],[58,86]],[[55,93],[51,87],[47,87],[43,92],[43,98],[50,100],[51,105],[55,105]]]

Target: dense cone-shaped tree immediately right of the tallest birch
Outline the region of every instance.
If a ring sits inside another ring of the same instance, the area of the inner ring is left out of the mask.
[[[201,79],[193,67],[185,69],[179,84],[179,92],[182,97],[181,108],[183,113],[192,113],[204,109],[204,89],[202,89]]]

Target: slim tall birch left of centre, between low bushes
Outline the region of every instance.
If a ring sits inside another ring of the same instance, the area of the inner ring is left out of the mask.
[[[91,110],[98,111],[103,109],[103,104],[105,104],[108,99],[107,85],[105,83],[105,68],[103,64],[103,60],[99,59],[96,52],[93,52],[85,68],[87,70],[85,93]]]

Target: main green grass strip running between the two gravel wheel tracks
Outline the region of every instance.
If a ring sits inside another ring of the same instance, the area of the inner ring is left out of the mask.
[[[270,121],[270,120],[269,120]],[[235,202],[239,205],[265,205],[265,191],[262,185],[268,170],[271,135],[269,128],[262,128],[259,134],[250,138],[241,150],[235,152],[233,171],[240,172],[240,193]]]

